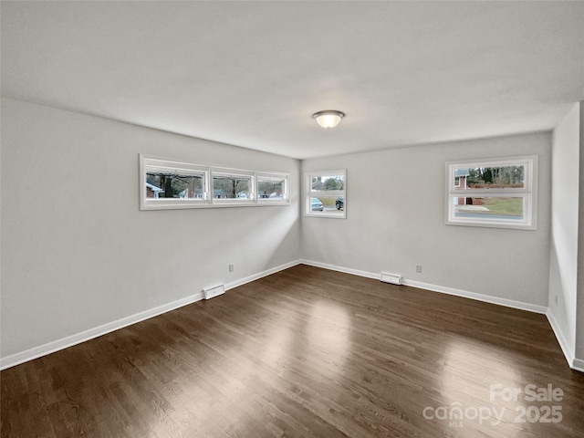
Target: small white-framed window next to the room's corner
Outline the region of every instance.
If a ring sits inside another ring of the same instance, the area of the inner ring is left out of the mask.
[[[347,172],[305,173],[305,215],[347,217]]]

